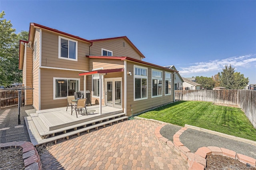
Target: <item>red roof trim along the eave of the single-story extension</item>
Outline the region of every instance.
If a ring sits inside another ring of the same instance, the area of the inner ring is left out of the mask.
[[[120,59],[120,60],[129,60],[129,61],[134,61],[134,62],[137,62],[137,63],[142,63],[142,64],[145,64],[145,65],[150,65],[150,66],[158,67],[158,68],[165,69],[165,70],[171,70],[171,71],[174,71],[174,72],[178,73],[178,71],[176,71],[176,70],[168,69],[168,68],[162,67],[162,66],[160,66],[160,65],[148,63],[148,62],[146,62],[146,61],[141,61],[141,60],[134,59],[134,58],[131,58],[131,57],[122,57],[122,56],[89,56],[89,55],[86,55],[86,57],[88,57],[88,58],[100,58],[100,59]]]

